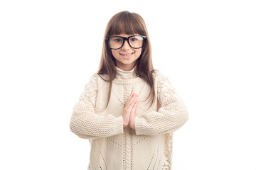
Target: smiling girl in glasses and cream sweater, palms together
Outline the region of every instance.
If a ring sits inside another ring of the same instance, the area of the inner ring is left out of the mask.
[[[187,120],[176,89],[153,68],[143,18],[114,15],[100,68],[70,120],[70,130],[90,141],[88,169],[171,169],[173,132]]]

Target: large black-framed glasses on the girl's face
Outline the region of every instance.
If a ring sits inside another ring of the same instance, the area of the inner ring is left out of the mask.
[[[124,45],[124,41],[127,40],[129,46],[132,48],[141,48],[146,40],[144,35],[131,35],[129,37],[111,36],[107,37],[106,41],[112,50],[117,50]]]

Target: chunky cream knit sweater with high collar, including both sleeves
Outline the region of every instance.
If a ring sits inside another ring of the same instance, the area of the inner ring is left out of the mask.
[[[88,169],[171,169],[172,136],[188,120],[186,106],[159,71],[153,73],[156,100],[149,107],[149,85],[134,69],[116,69],[107,108],[109,84],[97,74],[73,108],[70,130],[90,141]],[[122,111],[131,91],[139,95],[135,130],[123,128]]]

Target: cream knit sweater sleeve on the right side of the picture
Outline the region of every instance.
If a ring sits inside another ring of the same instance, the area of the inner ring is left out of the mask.
[[[170,83],[169,79],[159,71],[154,73],[159,110],[145,113],[135,118],[137,135],[159,135],[174,132],[188,120],[188,111],[181,96]]]

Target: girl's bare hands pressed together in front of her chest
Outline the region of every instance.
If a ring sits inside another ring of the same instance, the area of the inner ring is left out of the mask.
[[[124,119],[124,127],[129,125],[132,129],[135,129],[134,127],[134,120],[137,115],[136,109],[138,106],[139,100],[138,100],[138,95],[134,94],[132,92],[128,98],[127,104],[124,107],[122,117]]]

